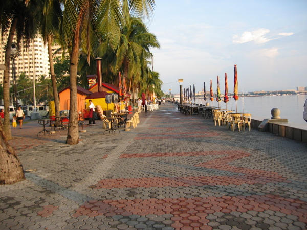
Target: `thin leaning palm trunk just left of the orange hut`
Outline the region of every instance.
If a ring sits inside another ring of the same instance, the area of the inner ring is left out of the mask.
[[[50,63],[50,73],[51,73],[51,82],[52,82],[52,89],[53,89],[55,116],[59,117],[60,116],[60,103],[59,103],[59,96],[58,96],[58,90],[56,86],[54,65],[53,65],[53,58],[52,58],[52,35],[48,35],[47,44],[48,44],[48,56],[49,56],[49,63]]]

